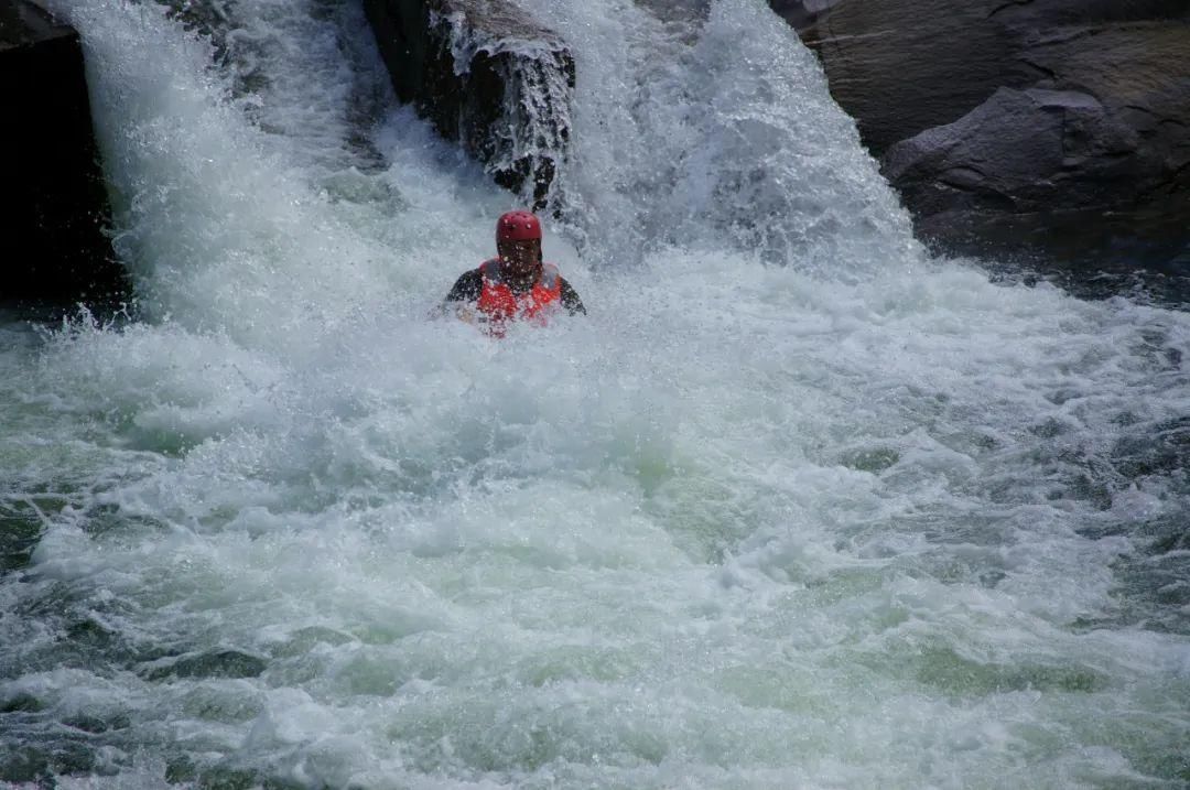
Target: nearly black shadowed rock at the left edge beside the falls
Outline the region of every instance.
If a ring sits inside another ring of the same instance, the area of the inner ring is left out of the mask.
[[[26,0],[0,0],[0,300],[121,297],[79,36]]]

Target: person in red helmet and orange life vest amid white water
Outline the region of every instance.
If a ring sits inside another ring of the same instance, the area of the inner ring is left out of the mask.
[[[541,222],[531,212],[508,212],[496,220],[496,253],[455,282],[439,313],[484,324],[497,337],[512,320],[544,325],[559,307],[570,315],[587,313],[558,268],[543,263]]]

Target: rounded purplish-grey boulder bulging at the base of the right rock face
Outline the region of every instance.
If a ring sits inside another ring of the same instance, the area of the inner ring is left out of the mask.
[[[1091,94],[1001,88],[883,169],[920,234],[951,249],[1077,257],[1133,238],[1129,255],[1161,258],[1184,243],[1190,184],[1160,153]]]

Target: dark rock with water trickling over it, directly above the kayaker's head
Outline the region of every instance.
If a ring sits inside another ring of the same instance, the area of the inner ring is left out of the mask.
[[[365,0],[402,101],[537,208],[570,142],[575,64],[505,0]]]

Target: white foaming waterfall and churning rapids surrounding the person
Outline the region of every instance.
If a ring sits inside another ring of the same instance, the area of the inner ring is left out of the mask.
[[[927,259],[760,0],[530,5],[590,315],[494,341],[353,2],[61,0],[139,320],[0,325],[0,782],[1190,782],[1186,315]]]

